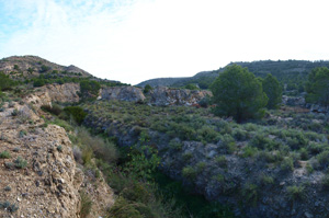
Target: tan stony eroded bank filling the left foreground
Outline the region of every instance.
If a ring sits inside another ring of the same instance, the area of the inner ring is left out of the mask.
[[[92,200],[89,217],[104,216],[114,204],[112,190],[102,175],[95,180],[76,163],[65,129],[45,124],[38,114],[38,106],[71,96],[36,93],[4,103],[0,112],[0,216],[78,218],[80,193]]]

